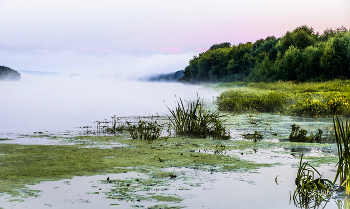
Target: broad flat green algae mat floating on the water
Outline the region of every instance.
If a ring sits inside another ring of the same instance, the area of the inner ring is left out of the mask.
[[[125,144],[115,149],[86,148],[75,145],[18,145],[0,147],[0,192],[21,195],[21,188],[41,181],[69,179],[74,176],[143,172],[144,168],[191,167],[226,171],[266,166],[237,157],[193,153],[192,150],[215,146],[210,139],[169,138],[148,143],[125,136],[82,136],[91,141]],[[234,147],[232,147],[234,148]],[[160,175],[160,174],[157,174]],[[163,175],[169,175],[163,174]],[[170,176],[170,175],[169,175]],[[170,177],[169,177],[170,178]]]

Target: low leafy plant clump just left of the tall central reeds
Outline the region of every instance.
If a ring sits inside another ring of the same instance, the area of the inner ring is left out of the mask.
[[[147,122],[139,120],[137,125],[131,124],[131,122],[126,121],[127,131],[130,133],[133,139],[144,139],[148,141],[153,141],[158,139],[163,130],[163,124],[154,122]]]

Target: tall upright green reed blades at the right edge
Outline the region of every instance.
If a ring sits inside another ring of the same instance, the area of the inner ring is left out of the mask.
[[[338,148],[338,169],[334,178],[335,183],[339,177],[340,184],[345,185],[346,194],[350,195],[350,124],[348,119],[340,122],[338,117],[333,117],[334,135]]]

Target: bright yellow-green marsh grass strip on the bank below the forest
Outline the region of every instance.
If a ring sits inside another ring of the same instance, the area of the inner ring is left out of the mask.
[[[223,84],[218,84],[221,86]],[[320,83],[239,83],[220,94],[223,111],[278,112],[303,117],[350,116],[350,80]],[[243,86],[237,88],[237,86]]]

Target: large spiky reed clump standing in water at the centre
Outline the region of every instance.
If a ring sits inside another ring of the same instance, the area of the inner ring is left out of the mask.
[[[219,120],[218,112],[210,112],[203,106],[198,97],[196,101],[189,101],[184,105],[181,98],[177,100],[177,106],[170,111],[168,119],[175,134],[194,138],[212,136],[215,139],[229,139],[230,133]]]

